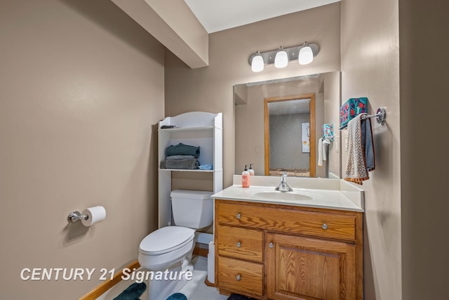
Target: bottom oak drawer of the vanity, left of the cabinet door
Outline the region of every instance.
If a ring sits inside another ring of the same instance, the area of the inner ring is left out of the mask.
[[[262,263],[251,263],[218,256],[220,289],[240,294],[262,296],[264,287]]]

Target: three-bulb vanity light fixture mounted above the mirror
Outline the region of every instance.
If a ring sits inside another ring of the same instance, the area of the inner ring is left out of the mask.
[[[293,46],[283,48],[280,46],[277,50],[260,53],[253,53],[248,62],[253,72],[261,72],[264,65],[272,65],[275,67],[286,67],[290,60],[298,60],[300,65],[307,65],[314,60],[319,53],[320,48],[317,44],[309,44],[304,42],[301,46]]]

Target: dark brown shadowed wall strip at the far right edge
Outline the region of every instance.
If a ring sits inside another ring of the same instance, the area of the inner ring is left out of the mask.
[[[448,11],[448,1],[399,1],[402,290],[407,300],[449,294]]]

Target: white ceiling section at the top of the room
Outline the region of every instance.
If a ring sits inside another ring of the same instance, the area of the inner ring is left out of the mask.
[[[208,33],[340,0],[184,0]]]

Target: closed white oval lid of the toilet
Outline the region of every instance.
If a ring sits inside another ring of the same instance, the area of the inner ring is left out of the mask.
[[[180,226],[166,226],[147,235],[140,242],[140,252],[156,255],[171,252],[194,239],[195,230]]]

